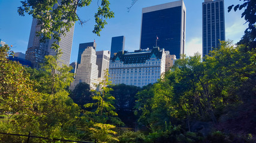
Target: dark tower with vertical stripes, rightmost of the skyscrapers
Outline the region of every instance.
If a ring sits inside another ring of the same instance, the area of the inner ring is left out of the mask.
[[[225,41],[224,0],[203,2],[203,57]]]

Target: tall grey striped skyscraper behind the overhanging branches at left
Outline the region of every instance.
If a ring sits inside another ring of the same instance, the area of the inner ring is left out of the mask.
[[[61,0],[58,0],[58,4],[61,4]],[[53,8],[58,7],[54,5]],[[37,19],[33,19],[31,32],[29,36],[28,49],[26,51],[26,60],[31,61],[32,67],[39,69],[40,64],[43,63],[44,56],[46,55],[56,55],[56,52],[51,49],[54,39],[47,40],[44,43],[40,42],[40,36],[37,36],[37,31],[41,30],[41,25],[37,24]],[[74,26],[70,28],[70,31],[65,33],[66,35],[60,35],[61,41],[57,42],[59,49],[62,52],[61,58],[58,59],[58,66],[63,64],[70,65],[70,56],[73,42]]]

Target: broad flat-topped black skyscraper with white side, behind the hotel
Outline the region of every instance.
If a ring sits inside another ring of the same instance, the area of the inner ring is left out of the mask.
[[[185,36],[186,7],[183,1],[142,9],[140,49],[159,46],[180,58],[185,50]]]

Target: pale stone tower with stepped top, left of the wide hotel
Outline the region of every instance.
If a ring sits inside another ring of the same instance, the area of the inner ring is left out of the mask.
[[[96,89],[98,80],[98,66],[96,64],[97,55],[93,46],[88,46],[81,56],[81,63],[78,64],[76,78],[70,85],[70,90],[73,90],[76,85],[81,82],[88,83],[91,89]]]

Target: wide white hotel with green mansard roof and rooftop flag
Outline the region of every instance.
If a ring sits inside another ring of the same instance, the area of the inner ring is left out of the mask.
[[[109,74],[113,84],[146,86],[157,82],[165,71],[164,49],[137,50],[118,52],[110,60]]]

